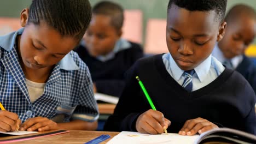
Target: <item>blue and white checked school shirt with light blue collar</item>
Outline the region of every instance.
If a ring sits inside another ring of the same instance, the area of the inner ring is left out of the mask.
[[[15,39],[24,28],[0,37],[0,101],[6,110],[17,113],[22,122],[32,117],[62,122],[82,119],[93,122],[98,118],[89,69],[77,53],[69,52],[55,65],[43,94],[31,103],[25,75],[15,49]]]

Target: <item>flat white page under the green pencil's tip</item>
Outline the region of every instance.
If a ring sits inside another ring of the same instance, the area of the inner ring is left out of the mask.
[[[108,144],[130,144],[130,143],[139,143],[139,144],[177,144],[177,143],[194,143],[199,135],[194,136],[182,136],[179,134],[161,134],[161,135],[148,135],[141,134],[131,131],[122,131],[118,135],[114,136],[113,139],[108,141]]]

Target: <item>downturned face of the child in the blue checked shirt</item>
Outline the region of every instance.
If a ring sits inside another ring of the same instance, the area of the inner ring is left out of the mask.
[[[49,68],[61,61],[78,43],[72,37],[62,37],[43,21],[40,21],[39,26],[33,23],[26,25],[26,22],[21,17],[21,26],[25,29],[19,37],[19,53],[27,68]]]

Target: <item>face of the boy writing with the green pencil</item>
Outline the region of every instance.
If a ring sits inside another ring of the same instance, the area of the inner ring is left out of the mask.
[[[174,61],[182,70],[197,67],[210,56],[216,41],[225,33],[215,11],[189,11],[172,5],[168,9],[166,43]]]

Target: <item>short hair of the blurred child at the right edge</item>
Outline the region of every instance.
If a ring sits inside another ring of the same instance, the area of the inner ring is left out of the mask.
[[[241,17],[249,17],[256,20],[255,10],[246,4],[236,4],[234,5],[226,14],[225,21],[234,22],[235,20],[240,19]]]

